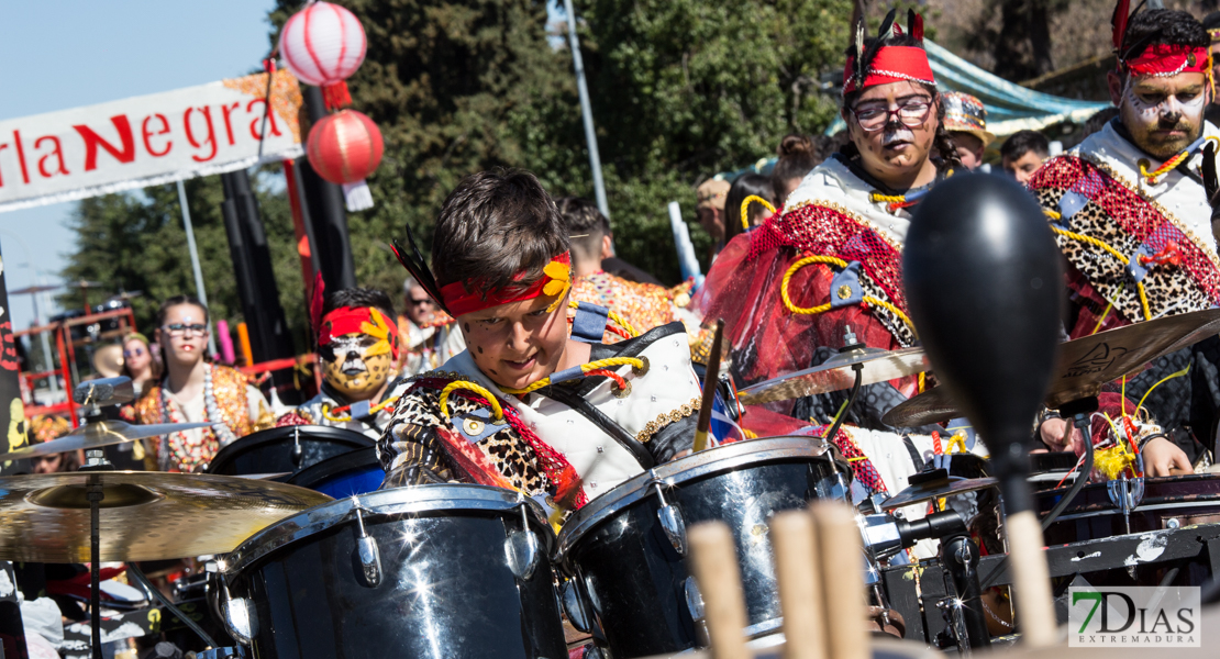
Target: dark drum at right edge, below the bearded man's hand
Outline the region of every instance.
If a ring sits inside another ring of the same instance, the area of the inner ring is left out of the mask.
[[[1059,487],[1036,492],[1038,512],[1049,513],[1066,491]],[[1126,518],[1120,501],[1110,498],[1109,484],[1086,485],[1043,532],[1047,544],[1120,536],[1127,532],[1127,519],[1132,534],[1220,521],[1220,475],[1143,479],[1143,498]]]

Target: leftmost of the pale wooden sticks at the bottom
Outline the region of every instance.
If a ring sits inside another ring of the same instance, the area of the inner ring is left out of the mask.
[[[692,525],[687,540],[694,579],[703,596],[711,655],[715,659],[750,659],[743,633],[745,598],[732,531],[722,521],[705,521]]]

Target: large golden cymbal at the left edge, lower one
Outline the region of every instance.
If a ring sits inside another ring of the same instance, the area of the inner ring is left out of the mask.
[[[87,485],[104,487],[101,560],[231,552],[276,521],[332,501],[274,481],[215,474],[76,471],[0,476],[0,560],[89,560]]]

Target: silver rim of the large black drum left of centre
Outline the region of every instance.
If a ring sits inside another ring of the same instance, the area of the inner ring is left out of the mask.
[[[443,482],[378,490],[366,495],[328,501],[283,518],[248,537],[235,549],[226,554],[222,571],[229,575],[238,574],[289,544],[295,544],[336,526],[355,524],[351,514],[355,501],[359,501],[360,508],[365,510],[366,523],[370,518],[382,515],[442,510],[514,512],[515,514],[516,508],[525,506],[536,523],[536,530],[544,529],[542,536],[547,543],[548,555],[554,544],[554,531],[547,523],[547,515],[538,502],[504,487]]]

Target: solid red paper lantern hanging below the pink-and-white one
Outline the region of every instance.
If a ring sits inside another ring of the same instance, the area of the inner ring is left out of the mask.
[[[305,145],[317,175],[338,184],[356,183],[373,173],[383,150],[377,124],[355,110],[322,118],[310,129]]]

